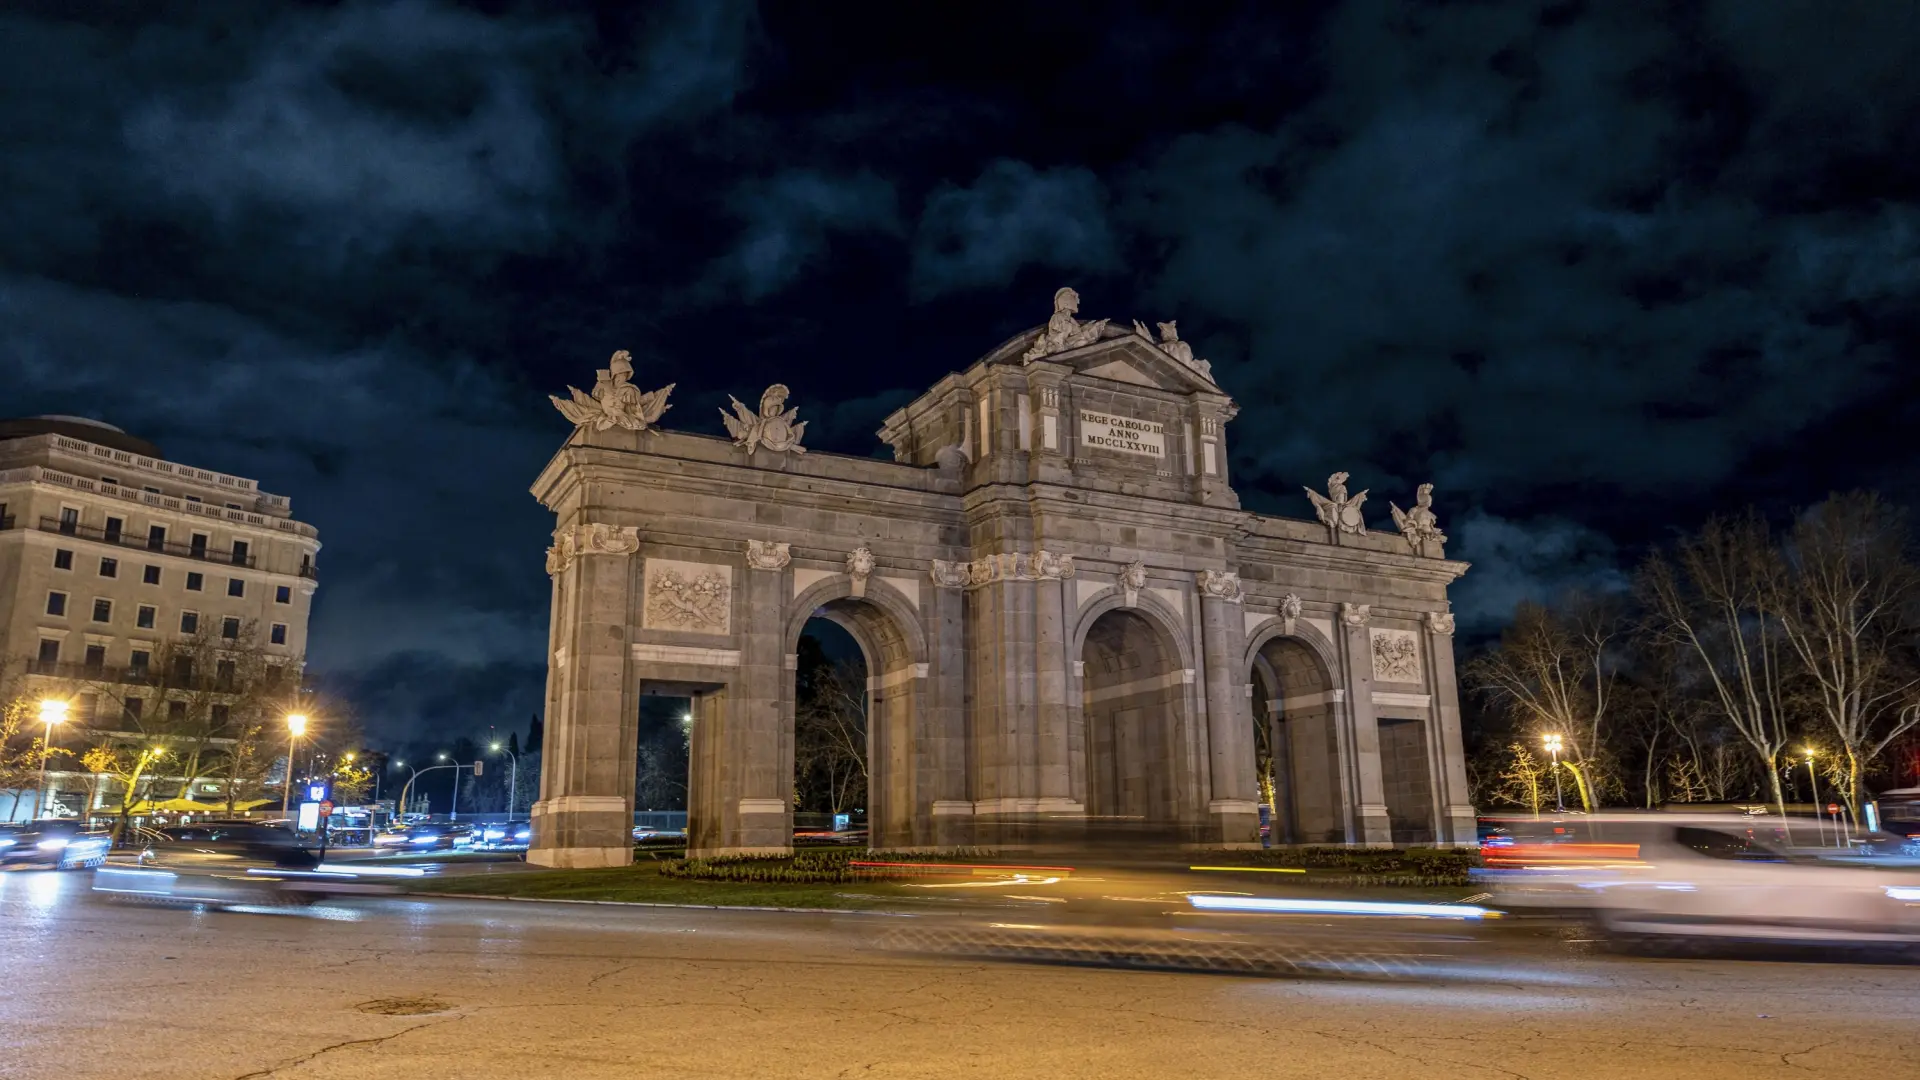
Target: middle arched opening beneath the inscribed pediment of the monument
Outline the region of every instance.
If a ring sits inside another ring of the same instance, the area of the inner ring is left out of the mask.
[[[1085,625],[1073,790],[1091,819],[1194,819],[1192,669],[1165,623],[1112,605]]]

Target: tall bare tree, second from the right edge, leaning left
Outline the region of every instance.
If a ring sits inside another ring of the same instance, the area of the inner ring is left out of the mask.
[[[1680,540],[1672,559],[1649,555],[1640,590],[1653,632],[1699,661],[1709,701],[1759,759],[1784,817],[1778,763],[1791,728],[1782,705],[1782,653],[1789,650],[1778,609],[1782,573],[1759,515],[1715,517]]]

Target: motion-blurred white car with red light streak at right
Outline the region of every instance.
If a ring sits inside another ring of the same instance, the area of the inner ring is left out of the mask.
[[[1482,847],[1492,903],[1580,913],[1630,947],[1860,947],[1920,955],[1920,844],[1812,819],[1590,815],[1501,822]]]

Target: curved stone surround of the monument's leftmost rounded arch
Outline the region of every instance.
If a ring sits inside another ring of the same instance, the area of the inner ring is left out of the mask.
[[[927,815],[920,813],[924,680],[927,676],[925,640],[914,603],[897,588],[868,578],[854,582],[835,575],[795,598],[785,626],[785,653],[797,655],[810,619],[826,619],[860,646],[866,661],[866,821],[872,847],[918,847],[933,844]],[[787,673],[781,696],[780,776],[795,771],[795,671]]]

